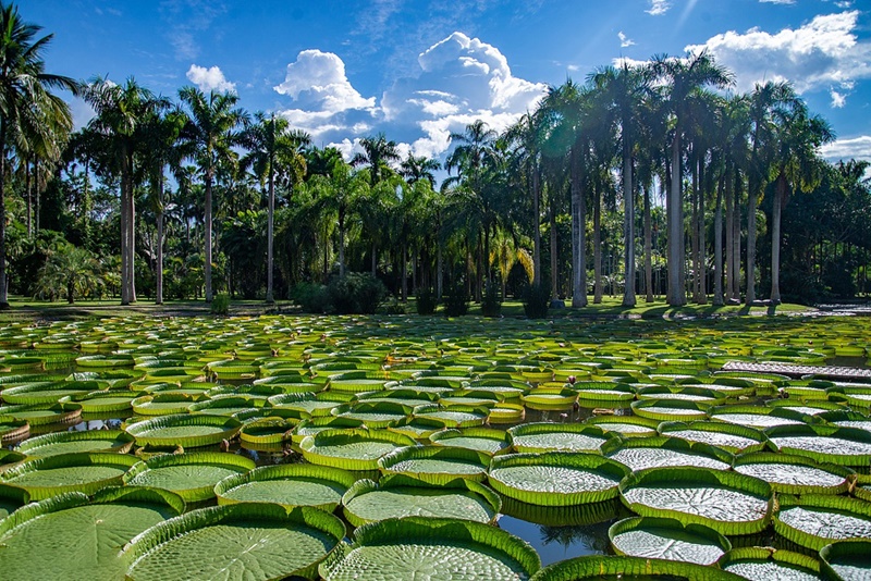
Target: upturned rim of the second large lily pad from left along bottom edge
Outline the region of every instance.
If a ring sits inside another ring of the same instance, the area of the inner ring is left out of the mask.
[[[132,563],[127,570],[127,578],[135,579],[134,571],[139,559],[158,546],[170,543],[186,532],[214,524],[236,521],[250,522],[252,520],[271,521],[289,528],[294,524],[309,527],[327,533],[335,540],[335,544],[326,555],[318,556],[310,564],[294,571],[284,571],[283,577],[312,578],[317,572],[318,565],[339,546],[346,532],[344,523],[339,518],[307,506],[287,509],[270,503],[241,503],[200,508],[164,520],[133,537],[121,554]]]

